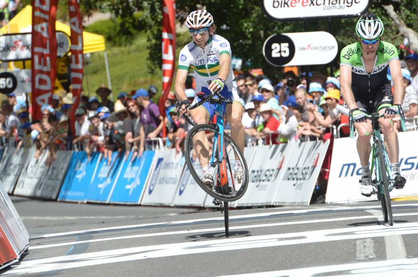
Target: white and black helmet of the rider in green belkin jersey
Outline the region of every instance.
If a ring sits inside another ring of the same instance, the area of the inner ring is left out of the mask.
[[[382,20],[374,13],[363,14],[356,25],[357,35],[362,39],[372,40],[380,38],[384,30]]]

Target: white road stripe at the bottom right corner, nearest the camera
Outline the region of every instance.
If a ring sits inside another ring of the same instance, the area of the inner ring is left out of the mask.
[[[418,258],[397,259],[388,261],[359,262],[340,265],[329,265],[291,270],[280,270],[270,272],[258,272],[240,275],[229,275],[228,277],[275,277],[275,276],[352,276],[361,275],[367,277],[399,276],[416,277],[418,270]]]

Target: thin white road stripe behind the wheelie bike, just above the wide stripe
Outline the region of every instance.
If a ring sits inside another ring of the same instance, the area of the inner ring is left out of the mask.
[[[393,216],[394,217],[403,217],[403,216],[417,216],[417,215],[418,215],[418,213],[408,213],[408,214],[394,214]],[[273,226],[282,226],[282,225],[298,225],[298,224],[309,224],[309,223],[320,223],[320,222],[337,222],[337,221],[361,220],[361,219],[368,219],[368,218],[374,218],[374,217],[375,216],[358,216],[358,217],[346,217],[346,218],[306,220],[306,221],[298,221],[298,222],[277,222],[277,223],[265,223],[265,224],[252,224],[252,225],[230,226],[229,229],[230,230],[239,230],[239,229],[264,228],[264,227],[273,227]],[[119,236],[119,237],[91,239],[91,240],[84,240],[84,241],[39,245],[39,246],[31,246],[29,249],[32,250],[32,249],[62,247],[62,246],[76,245],[76,244],[83,244],[83,243],[94,243],[94,242],[103,242],[103,241],[134,239],[134,238],[144,238],[144,237],[156,237],[156,236],[167,236],[167,235],[179,235],[179,234],[205,233],[205,232],[224,231],[224,230],[225,230],[224,227],[194,229],[194,230],[189,229],[189,230],[181,230],[181,231],[148,233],[148,234],[139,234],[139,235],[129,235],[129,236]]]

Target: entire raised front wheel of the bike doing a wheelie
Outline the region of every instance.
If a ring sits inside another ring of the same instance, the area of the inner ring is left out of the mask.
[[[224,133],[223,143],[225,148],[225,159],[223,159],[223,166],[226,167],[226,170],[224,171],[226,171],[228,177],[228,184],[225,186],[230,187],[228,190],[230,192],[224,193],[223,191],[225,190],[217,187],[219,185],[217,177],[219,175],[219,166],[221,165],[221,160],[218,157],[219,151],[217,151],[219,150],[220,141],[218,141],[218,144],[216,145],[218,149],[215,149],[215,155],[213,155],[213,143],[215,140],[214,137],[218,135],[219,133],[216,129],[216,125],[199,124],[194,126],[188,132],[184,141],[184,156],[186,165],[194,180],[207,194],[221,201],[232,202],[241,198],[247,190],[248,167],[238,145],[228,134]],[[242,174],[239,174],[238,171],[238,175],[235,171],[237,162],[240,162],[242,166]],[[203,177],[202,168],[208,166],[214,184],[211,188],[205,185],[201,180]]]

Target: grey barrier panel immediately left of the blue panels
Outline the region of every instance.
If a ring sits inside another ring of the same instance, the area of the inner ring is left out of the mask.
[[[36,188],[35,196],[48,199],[57,199],[62,181],[67,172],[72,151],[57,151],[55,162],[46,166]]]

